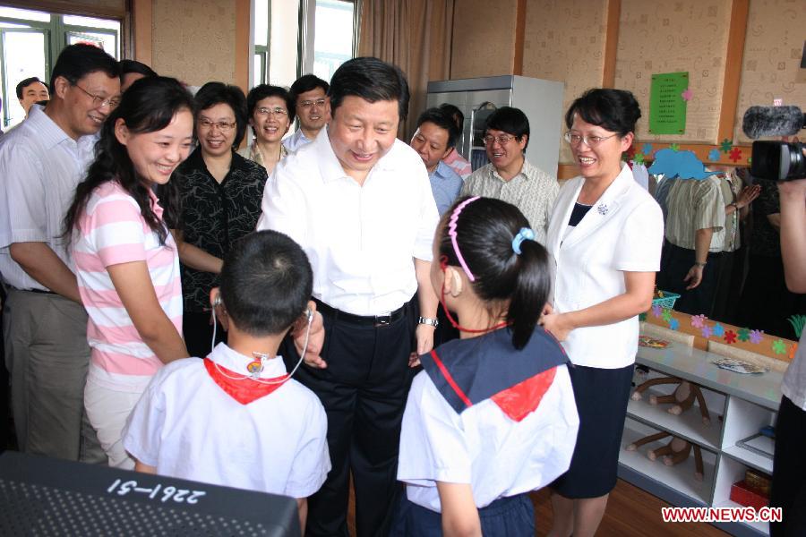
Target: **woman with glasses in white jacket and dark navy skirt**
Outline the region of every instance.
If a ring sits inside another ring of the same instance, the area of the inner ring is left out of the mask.
[[[562,186],[549,223],[554,295],[541,322],[575,365],[579,435],[552,484],[553,536],[594,535],[616,483],[638,315],[652,303],[664,232],[660,207],[622,163],[640,115],[623,90],[588,90],[565,115],[579,176]]]

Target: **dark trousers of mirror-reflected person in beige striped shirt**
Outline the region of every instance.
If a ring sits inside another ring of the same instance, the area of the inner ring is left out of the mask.
[[[689,284],[683,281],[689,269],[694,266],[695,252],[687,248],[664,242],[661,257],[661,270],[657,275],[657,288],[680,294],[674,303],[674,311],[690,315],[705,314],[712,317],[716,284],[719,277],[719,261],[722,252],[708,252],[707,263],[702,269],[702,281],[693,289],[686,289]]]

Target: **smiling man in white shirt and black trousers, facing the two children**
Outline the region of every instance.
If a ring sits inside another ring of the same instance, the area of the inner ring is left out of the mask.
[[[302,245],[324,317],[322,359],[296,373],[322,399],[333,465],[309,500],[309,535],[347,535],[351,473],[358,535],[388,532],[409,354],[415,338],[417,354],[433,346],[437,210],[422,159],[395,138],[408,98],[399,68],[377,58],[342,64],[327,130],[280,162],[263,193],[258,229]],[[413,330],[408,302],[418,290],[423,317]]]

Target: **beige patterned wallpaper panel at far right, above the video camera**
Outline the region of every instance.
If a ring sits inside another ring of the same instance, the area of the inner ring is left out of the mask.
[[[773,99],[781,98],[785,105],[806,108],[806,81],[796,81],[804,40],[803,0],[750,1],[734,141],[750,141],[742,132],[748,107],[771,106]],[[804,137],[806,132],[801,131],[801,140]]]

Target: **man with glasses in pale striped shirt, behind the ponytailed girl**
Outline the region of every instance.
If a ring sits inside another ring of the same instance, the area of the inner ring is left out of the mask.
[[[545,243],[554,199],[560,185],[552,175],[531,164],[524,151],[529,120],[518,108],[501,107],[487,119],[484,148],[490,164],[467,177],[462,196],[484,196],[511,203],[527,217],[535,240]]]

